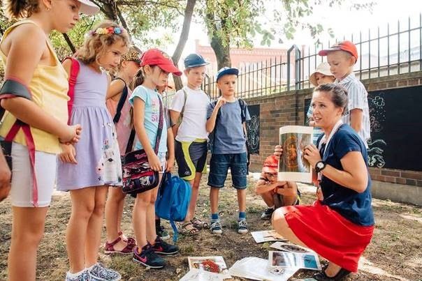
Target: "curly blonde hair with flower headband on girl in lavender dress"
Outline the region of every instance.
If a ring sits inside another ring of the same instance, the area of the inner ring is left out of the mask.
[[[103,20],[92,31],[89,31],[76,57],[85,64],[93,63],[98,61],[108,47],[119,40],[122,40],[124,46],[131,44],[129,35],[124,28],[110,20]]]

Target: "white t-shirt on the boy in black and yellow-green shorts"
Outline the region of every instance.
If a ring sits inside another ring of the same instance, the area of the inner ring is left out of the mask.
[[[182,112],[184,91],[187,91],[187,100],[184,105],[183,119],[177,131],[176,140],[179,142],[193,142],[195,139],[208,139],[205,129],[207,123],[207,107],[210,98],[201,89],[193,90],[184,86],[175,93],[168,109]]]

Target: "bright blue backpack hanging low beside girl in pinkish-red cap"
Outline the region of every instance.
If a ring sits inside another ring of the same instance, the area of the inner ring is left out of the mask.
[[[155,202],[155,213],[159,218],[170,220],[174,231],[174,242],[177,241],[175,222],[184,221],[190,201],[191,185],[178,176],[172,176],[168,172],[164,173]]]

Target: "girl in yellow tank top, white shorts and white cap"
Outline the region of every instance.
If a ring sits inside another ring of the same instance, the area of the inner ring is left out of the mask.
[[[52,30],[65,33],[78,22],[79,12],[92,14],[99,9],[88,0],[31,1],[31,4],[6,0],[3,4],[10,19],[28,16],[4,33],[0,56],[6,65],[6,82],[31,96],[31,100],[13,98],[14,89],[2,92],[1,107],[7,112],[1,137],[6,137],[16,119],[25,123],[27,135],[31,135],[24,137],[20,130],[11,139],[13,227],[8,280],[36,280],[36,252],[54,188],[59,141],[75,143],[80,135],[80,126],[66,124],[67,75],[48,34]]]

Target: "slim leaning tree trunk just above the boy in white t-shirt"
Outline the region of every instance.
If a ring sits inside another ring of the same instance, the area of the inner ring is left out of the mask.
[[[184,20],[183,20],[183,27],[182,32],[180,33],[179,42],[177,43],[177,47],[171,59],[173,59],[173,63],[177,66],[178,61],[180,60],[180,56],[182,56],[182,52],[184,49],[184,45],[186,45],[187,38],[189,36],[189,29],[191,28],[191,20],[192,15],[194,14],[196,0],[188,0],[186,4],[186,8],[184,9]],[[179,76],[173,75],[173,80],[175,82],[176,91],[183,88],[182,78]]]

